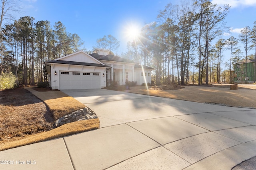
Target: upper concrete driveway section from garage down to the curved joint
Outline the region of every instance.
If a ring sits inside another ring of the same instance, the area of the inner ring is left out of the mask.
[[[95,111],[100,118],[100,127],[195,113],[250,110],[106,89],[62,90],[62,92]]]

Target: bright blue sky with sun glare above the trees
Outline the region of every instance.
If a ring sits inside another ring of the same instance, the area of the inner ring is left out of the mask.
[[[170,2],[178,4],[180,0],[20,0],[22,12],[16,20],[31,16],[35,22],[50,21],[52,27],[61,21],[67,32],[80,36],[88,50],[96,45],[96,39],[111,34],[120,41],[117,53],[121,54],[127,51],[126,27],[132,24],[142,27],[157,21],[159,11]],[[232,29],[223,39],[238,37],[243,27],[252,28],[256,21],[256,0],[212,0],[212,3],[232,6],[226,18],[226,26]]]

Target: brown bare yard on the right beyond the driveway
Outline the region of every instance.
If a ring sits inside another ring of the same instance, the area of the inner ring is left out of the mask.
[[[160,87],[149,87],[147,90],[146,87],[137,86],[126,91],[199,103],[256,108],[256,85],[238,85],[238,90],[230,90],[229,84],[175,86],[170,90],[162,90]]]

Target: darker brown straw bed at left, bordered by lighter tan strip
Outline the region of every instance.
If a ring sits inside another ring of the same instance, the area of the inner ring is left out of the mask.
[[[0,90],[0,144],[52,129],[45,104],[24,88]]]

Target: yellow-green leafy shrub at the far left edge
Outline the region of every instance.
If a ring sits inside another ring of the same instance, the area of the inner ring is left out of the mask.
[[[0,89],[5,90],[5,89],[11,89],[14,88],[16,84],[16,77],[12,72],[2,72],[0,74]]]

